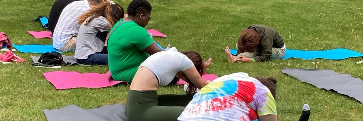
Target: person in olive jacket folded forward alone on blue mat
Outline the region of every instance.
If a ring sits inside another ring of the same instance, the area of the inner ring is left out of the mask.
[[[267,25],[250,25],[244,29],[236,47],[236,55],[231,55],[228,46],[225,48],[229,62],[263,62],[282,59],[286,54],[284,39]]]

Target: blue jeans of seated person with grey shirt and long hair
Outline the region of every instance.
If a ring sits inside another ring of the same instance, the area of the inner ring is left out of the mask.
[[[88,56],[88,59],[77,59],[78,63],[85,65],[108,65],[108,54],[94,53]]]

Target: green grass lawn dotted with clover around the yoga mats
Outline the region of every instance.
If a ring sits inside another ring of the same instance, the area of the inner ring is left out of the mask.
[[[131,0],[115,0],[126,10]],[[250,24],[266,24],[285,39],[287,48],[325,50],[347,48],[363,52],[362,0],[149,0],[151,21],[147,29],[168,35],[154,37],[159,44],[171,43],[179,51],[196,51],[204,59],[212,57],[207,72],[218,76],[246,72],[250,76],[273,76],[277,83],[277,111],[280,121],[297,121],[301,107],[311,106],[311,121],[361,121],[363,105],[341,94],[315,86],[281,73],[281,68],[333,69],[339,73],[363,78],[362,58],[332,60],[273,60],[258,63],[229,63],[226,46],[235,47],[242,29]],[[0,32],[13,44],[52,44],[51,39],[35,39],[26,31],[43,31],[34,23],[38,15],[49,15],[54,0],[0,0]],[[74,52],[62,53],[74,55]],[[107,66],[66,66],[46,69],[30,66],[30,55],[16,55],[27,60],[21,64],[0,64],[0,120],[45,121],[43,109],[57,109],[74,104],[97,108],[125,104],[127,86],[101,89],[56,90],[42,73],[77,71],[105,73]],[[159,94],[183,94],[182,86],[159,88]]]

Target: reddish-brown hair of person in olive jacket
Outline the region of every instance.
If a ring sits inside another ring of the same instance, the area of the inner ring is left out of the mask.
[[[255,52],[257,45],[260,44],[260,34],[254,29],[245,29],[238,37],[237,47],[240,52]]]

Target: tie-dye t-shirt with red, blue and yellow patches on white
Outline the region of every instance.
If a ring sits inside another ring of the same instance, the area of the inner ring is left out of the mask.
[[[219,77],[195,94],[178,121],[258,121],[277,115],[270,90],[247,73]]]

